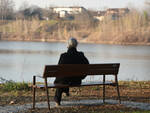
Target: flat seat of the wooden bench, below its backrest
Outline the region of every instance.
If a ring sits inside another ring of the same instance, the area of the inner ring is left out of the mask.
[[[114,85],[115,83],[114,82],[111,82],[111,81],[106,81],[105,82],[105,85]],[[60,87],[80,87],[80,86],[94,86],[94,85],[103,85],[103,82],[82,82],[81,85],[64,85],[64,84],[58,84],[58,85],[55,85],[53,83],[51,84],[48,84],[48,88],[60,88]],[[36,85],[37,88],[44,88],[45,85],[44,84],[38,84]]]

